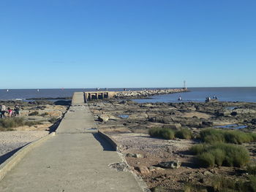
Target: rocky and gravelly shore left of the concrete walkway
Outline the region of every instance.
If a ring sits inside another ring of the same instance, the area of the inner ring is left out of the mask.
[[[54,131],[68,109],[68,103],[59,101],[0,101],[6,107],[20,105],[20,118],[0,118],[0,164],[12,151]],[[12,126],[13,125],[13,126]]]

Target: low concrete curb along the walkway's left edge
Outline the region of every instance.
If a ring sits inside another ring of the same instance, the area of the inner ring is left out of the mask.
[[[3,164],[0,165],[0,181],[5,177],[5,175],[12,170],[22,159],[23,157],[29,153],[34,147],[37,147],[45,140],[50,137],[55,136],[55,132],[52,132],[45,137],[35,140],[34,142],[29,143],[29,145],[25,145],[20,150],[18,150],[14,155],[4,161]]]

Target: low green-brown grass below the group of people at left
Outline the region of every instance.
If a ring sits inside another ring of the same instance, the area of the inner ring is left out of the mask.
[[[40,124],[39,121],[25,121],[23,118],[2,118],[0,119],[1,131],[12,131],[12,128],[19,126],[34,126]]]

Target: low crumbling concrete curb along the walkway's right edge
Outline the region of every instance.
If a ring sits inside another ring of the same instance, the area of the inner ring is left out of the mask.
[[[124,162],[125,164],[127,164],[127,160],[125,159],[123,153],[121,153],[121,150],[120,150],[121,147],[117,145],[116,140],[113,139],[112,137],[110,137],[104,131],[99,131],[98,130],[98,133],[101,137],[104,137],[105,139],[108,140],[110,145],[112,145],[112,147],[114,147],[114,149],[118,153],[119,157],[121,158],[121,161]],[[127,166],[129,167],[128,172],[131,172],[133,177],[135,177],[135,180],[137,181],[137,183],[140,186],[140,188],[142,189],[142,191],[143,192],[150,192],[150,189],[148,188],[148,185],[146,185],[146,183],[144,182],[143,178],[140,177],[140,175],[135,174],[135,172],[132,172],[132,169],[130,168],[129,164],[127,164]]]

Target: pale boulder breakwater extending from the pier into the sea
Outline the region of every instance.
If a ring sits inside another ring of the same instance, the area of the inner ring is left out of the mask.
[[[154,90],[143,90],[143,91],[123,91],[116,93],[114,96],[116,99],[140,99],[148,96],[163,95],[170,93],[181,93],[187,92],[185,88],[172,88],[172,89],[154,89]]]

